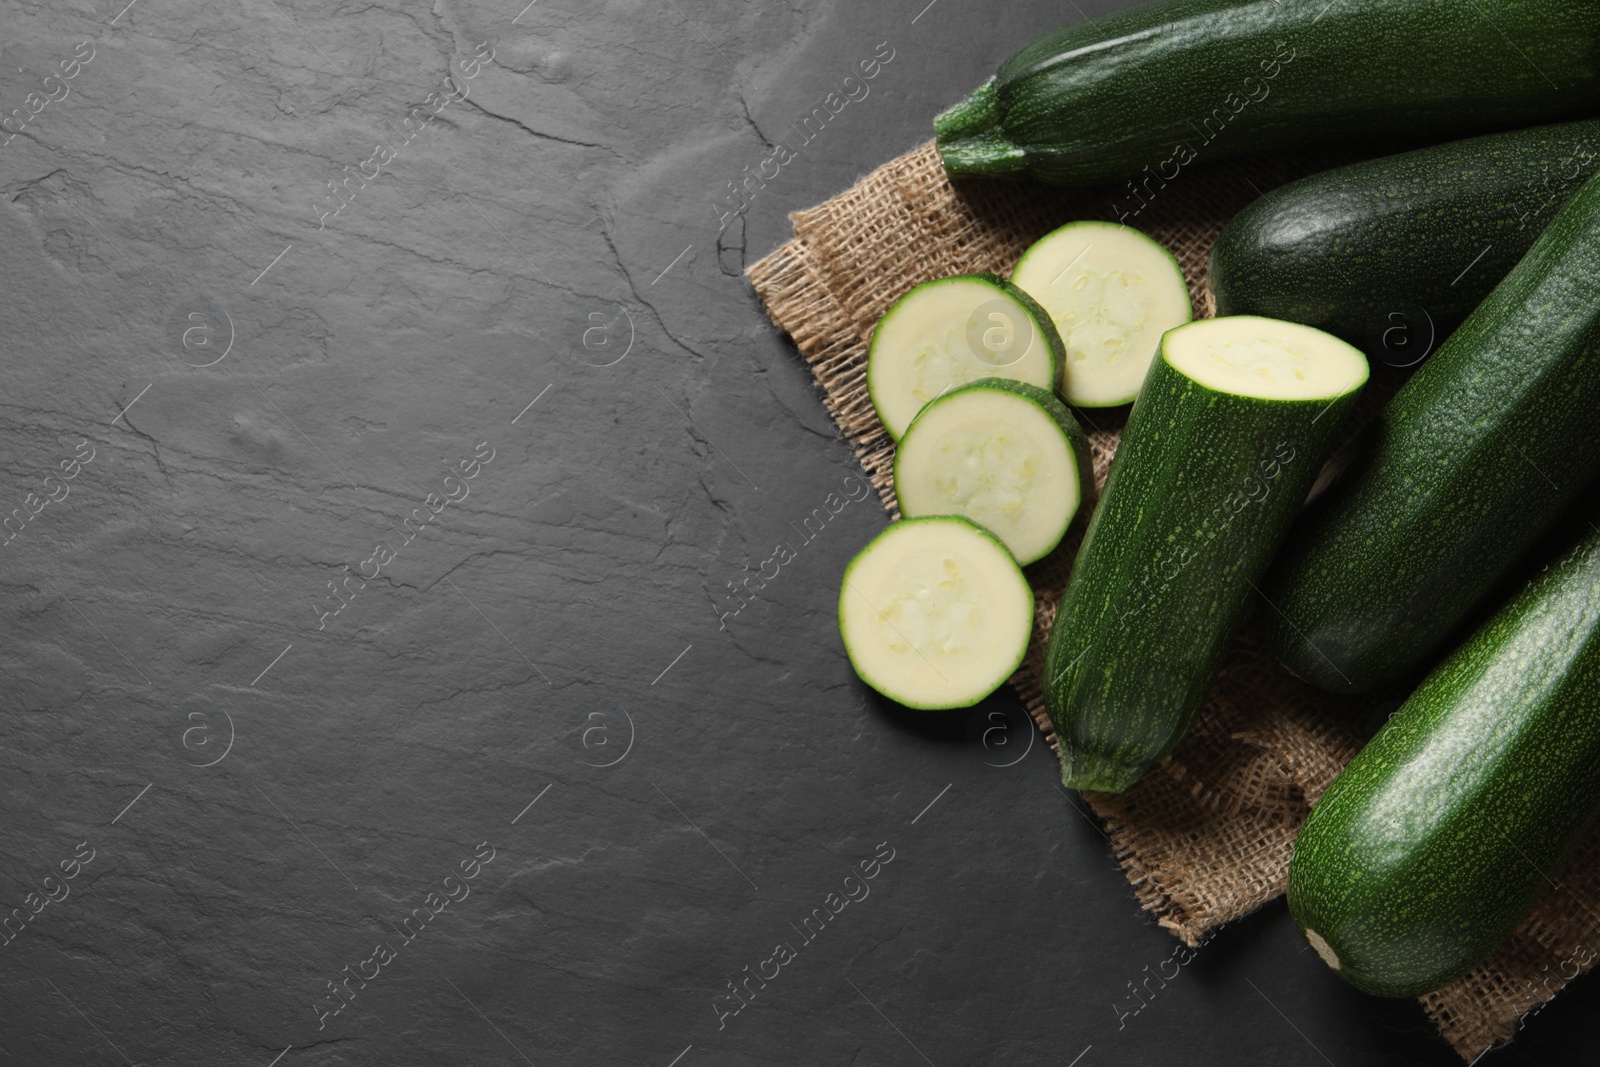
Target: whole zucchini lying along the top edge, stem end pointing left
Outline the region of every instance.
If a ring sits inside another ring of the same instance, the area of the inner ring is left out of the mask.
[[[952,178],[1126,181],[1126,221],[1197,162],[1592,115],[1597,53],[1597,0],[1162,0],[1034,40],[934,131]]]

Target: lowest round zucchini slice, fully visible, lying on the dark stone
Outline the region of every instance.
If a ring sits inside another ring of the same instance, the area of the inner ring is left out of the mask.
[[[1022,568],[965,518],[893,523],[856,553],[838,590],[850,664],[906,707],[971,707],[1016,672],[1032,630]]]

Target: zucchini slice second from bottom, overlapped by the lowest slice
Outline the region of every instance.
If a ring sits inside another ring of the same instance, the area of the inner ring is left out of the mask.
[[[894,453],[906,518],[962,515],[1024,565],[1061,544],[1093,491],[1090,442],[1067,405],[1005,378],[979,379],[925,406]]]

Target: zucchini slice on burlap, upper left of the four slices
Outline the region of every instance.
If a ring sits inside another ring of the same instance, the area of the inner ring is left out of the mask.
[[[1061,338],[1026,293],[992,274],[923,282],[872,331],[867,395],[896,442],[922,406],[979,378],[1053,389]]]

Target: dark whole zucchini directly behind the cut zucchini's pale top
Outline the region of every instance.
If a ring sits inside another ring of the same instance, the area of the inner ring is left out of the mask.
[[[1408,318],[1443,339],[1597,171],[1590,118],[1302,178],[1222,227],[1211,248],[1216,314],[1306,323],[1374,357],[1398,355]]]

